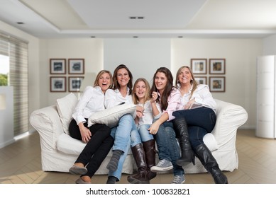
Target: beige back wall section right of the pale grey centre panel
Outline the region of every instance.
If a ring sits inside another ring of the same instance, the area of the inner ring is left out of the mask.
[[[175,75],[180,66],[189,66],[192,58],[225,58],[226,92],[212,95],[244,107],[248,121],[243,127],[255,128],[256,57],[260,54],[259,39],[172,39],[172,72]]]

